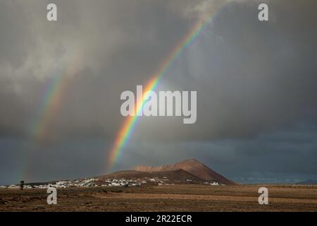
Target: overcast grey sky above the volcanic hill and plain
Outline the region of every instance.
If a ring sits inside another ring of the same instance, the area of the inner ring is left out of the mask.
[[[268,21],[258,20],[260,2]],[[49,3],[57,21],[46,20]],[[206,18],[158,88],[196,90],[197,122],[142,117],[112,170],[195,158],[241,183],[317,179],[316,8],[313,0],[0,1],[0,184],[105,174],[125,121],[120,93],[145,85]]]

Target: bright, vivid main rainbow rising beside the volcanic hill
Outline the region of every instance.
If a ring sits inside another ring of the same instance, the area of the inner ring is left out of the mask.
[[[203,32],[213,21],[214,17],[208,18],[207,20],[199,20],[191,30],[185,35],[180,42],[170,51],[170,54],[168,54],[168,57],[163,61],[163,64],[159,67],[159,70],[154,73],[154,76],[151,77],[151,80],[147,85],[145,86],[145,89],[143,90],[143,93],[150,91],[150,90],[156,90],[156,88],[159,85],[159,82],[163,78],[163,76],[166,75],[168,70],[170,69],[170,66],[175,62],[178,57],[180,57],[180,54],[184,52],[184,50],[189,47],[195,40],[197,40],[197,37]],[[137,100],[137,109],[136,112],[142,111],[144,107],[144,103],[147,100],[147,97],[144,97],[143,100]],[[132,133],[135,129],[135,125],[137,124],[137,121],[139,117],[137,114],[136,116],[130,116],[123,122],[123,126],[121,126],[117,136],[116,140],[113,143],[113,147],[110,150],[110,153],[108,154],[107,159],[107,169],[111,169],[113,165],[116,164],[118,159],[120,158],[120,155],[123,152],[123,149],[128,144],[128,141],[130,140]]]

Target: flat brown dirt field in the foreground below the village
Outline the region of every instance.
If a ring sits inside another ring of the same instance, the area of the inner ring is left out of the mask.
[[[258,189],[268,188],[268,205]],[[317,186],[173,185],[58,189],[57,205],[45,189],[0,189],[0,211],[317,211]]]

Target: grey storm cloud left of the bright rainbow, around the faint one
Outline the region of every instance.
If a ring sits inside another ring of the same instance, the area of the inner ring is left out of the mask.
[[[48,2],[1,2],[1,79],[8,80],[0,84],[6,87],[1,124],[29,135],[46,87],[65,73],[66,91],[48,135],[113,138],[123,120],[120,93],[146,83],[192,22],[159,2],[54,1],[58,22],[48,23]],[[19,121],[11,120],[15,105],[26,112]]]

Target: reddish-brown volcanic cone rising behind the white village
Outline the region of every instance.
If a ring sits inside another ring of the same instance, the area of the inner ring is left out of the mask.
[[[202,164],[198,160],[184,160],[182,162],[175,163],[173,165],[161,165],[159,167],[151,167],[151,166],[144,166],[139,165],[133,170],[139,172],[169,172],[177,169],[182,169],[189,174],[201,179],[202,181],[213,181],[219,182],[221,184],[226,185],[234,185],[235,182],[231,182],[229,179],[226,179],[222,175],[218,174],[217,172],[213,171],[206,165]]]

